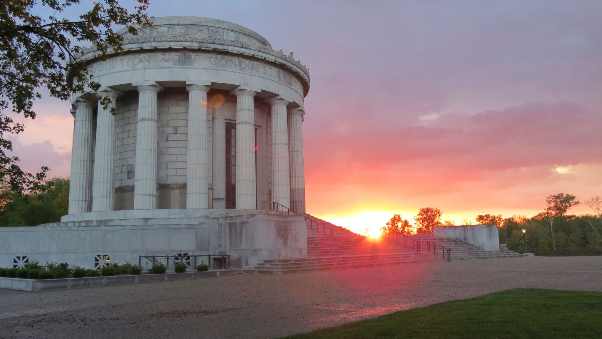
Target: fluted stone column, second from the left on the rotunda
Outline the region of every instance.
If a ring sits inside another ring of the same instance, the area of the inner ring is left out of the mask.
[[[92,212],[113,211],[115,174],[115,108],[118,93],[103,91],[101,98],[109,98],[107,109],[98,103],[96,115],[96,148],[94,153],[94,178],[92,180]]]

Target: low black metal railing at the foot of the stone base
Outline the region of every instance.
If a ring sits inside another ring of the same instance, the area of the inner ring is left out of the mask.
[[[173,271],[176,264],[186,264],[187,267],[196,269],[200,264],[205,264],[209,270],[224,270],[230,268],[229,255],[141,255],[138,256],[138,265],[143,270],[148,270],[152,265],[163,264],[168,271]]]

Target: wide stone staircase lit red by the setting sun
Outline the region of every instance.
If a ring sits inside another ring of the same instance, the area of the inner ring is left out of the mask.
[[[426,241],[452,249],[452,260],[529,256],[515,252],[485,251],[459,239],[433,238],[432,235],[412,236],[421,242],[418,252],[417,249],[412,249],[409,239],[406,242],[407,246],[404,245],[403,236],[399,236],[399,242],[396,242],[395,238],[370,239],[311,215],[307,215],[307,219],[307,258],[264,260],[253,267],[244,267],[242,273],[301,273],[447,260],[442,256],[440,247],[436,248],[436,252],[427,252]],[[317,226],[317,223],[320,226]]]

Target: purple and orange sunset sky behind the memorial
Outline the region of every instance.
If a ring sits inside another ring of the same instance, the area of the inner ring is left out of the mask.
[[[148,13],[235,22],[308,66],[312,215],[361,232],[423,207],[464,224],[602,195],[600,1],[153,0]],[[15,153],[68,176],[69,104],[34,108]]]

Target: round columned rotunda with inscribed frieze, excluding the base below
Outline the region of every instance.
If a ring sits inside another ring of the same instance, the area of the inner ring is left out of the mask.
[[[305,212],[308,69],[231,22],[151,20],[137,35],[120,30],[123,52],[107,60],[95,48],[82,51],[98,97],[111,105],[73,97],[69,214]]]

